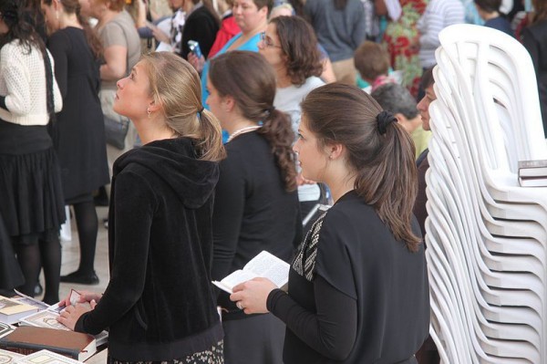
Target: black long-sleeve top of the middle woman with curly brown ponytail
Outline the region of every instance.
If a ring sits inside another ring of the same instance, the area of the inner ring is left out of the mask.
[[[212,279],[242,269],[263,250],[289,262],[300,243],[302,221],[296,191],[286,192],[270,144],[258,132],[244,133],[226,144],[212,216]],[[218,304],[229,311],[222,319],[243,318],[229,295]]]

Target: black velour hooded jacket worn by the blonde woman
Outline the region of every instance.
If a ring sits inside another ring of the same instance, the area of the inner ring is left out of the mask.
[[[114,163],[110,281],[77,331],[109,328],[112,359],[181,359],[222,339],[211,285],[218,163],[187,138],[157,140]]]

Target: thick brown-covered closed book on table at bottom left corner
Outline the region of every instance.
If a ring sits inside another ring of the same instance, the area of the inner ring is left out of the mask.
[[[70,359],[85,360],[97,351],[95,338],[88,334],[55,328],[19,327],[0,338],[0,348],[20,354],[47,349]]]

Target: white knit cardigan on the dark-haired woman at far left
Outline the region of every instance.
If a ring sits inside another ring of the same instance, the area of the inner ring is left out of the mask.
[[[53,57],[53,98],[55,112],[63,108],[63,99],[55,79]],[[46,67],[44,57],[36,47],[27,48],[15,39],[0,49],[0,95],[5,106],[0,108],[0,119],[20,125],[47,125]]]

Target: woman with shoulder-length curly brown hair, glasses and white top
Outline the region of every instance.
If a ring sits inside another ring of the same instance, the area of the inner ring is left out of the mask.
[[[297,135],[302,113],[300,103],[311,90],[325,85],[319,78],[323,63],[314,29],[299,16],[274,17],[262,34],[258,48],[275,70],[274,106],[289,114]],[[317,183],[305,180],[302,174],[298,175],[297,182],[300,210],[305,220],[319,203],[321,192]],[[313,221],[309,220],[304,232],[311,224]]]

